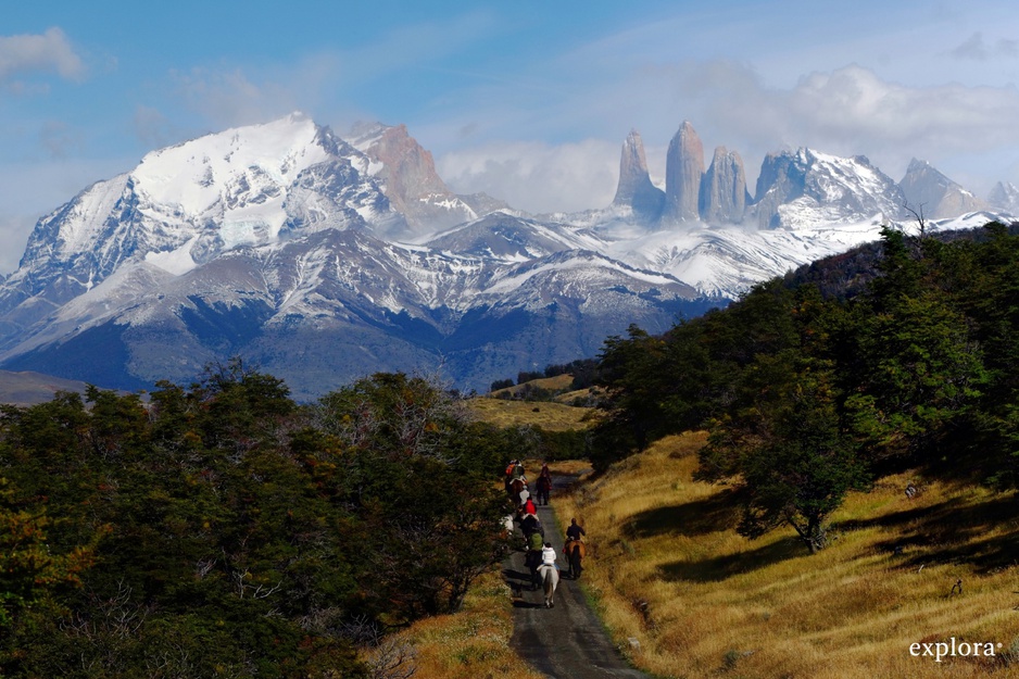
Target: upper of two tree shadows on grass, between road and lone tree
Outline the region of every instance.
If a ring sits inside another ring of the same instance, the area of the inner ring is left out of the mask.
[[[734,527],[740,514],[738,493],[727,489],[703,500],[641,512],[627,521],[626,529],[637,538],[704,536]]]

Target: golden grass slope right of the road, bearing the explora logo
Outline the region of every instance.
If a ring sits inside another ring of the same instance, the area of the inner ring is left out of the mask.
[[[692,480],[704,438],[661,441],[556,499],[559,520],[576,516],[588,531],[584,584],[616,641],[640,641],[639,667],[662,677],[1019,677],[1014,493],[885,478],[847,499],[834,542],[812,556],[791,528],[756,541],[735,533],[731,491]],[[921,488],[911,500],[910,481]],[[952,594],[959,579],[964,593]],[[910,644],[953,637],[993,643],[995,657],[910,655]]]

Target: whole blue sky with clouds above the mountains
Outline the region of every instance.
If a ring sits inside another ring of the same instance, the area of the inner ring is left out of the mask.
[[[51,0],[0,17],[0,274],[37,219],[149,151],[302,111],[341,136],[405,124],[456,192],[606,206],[641,134],[665,175],[683,121],[706,160],[930,162],[1019,185],[1014,0]]]

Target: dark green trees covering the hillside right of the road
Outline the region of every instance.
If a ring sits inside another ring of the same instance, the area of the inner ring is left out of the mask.
[[[607,340],[595,467],[706,428],[697,476],[737,486],[740,531],[791,526],[812,552],[848,491],[901,469],[1016,487],[1015,227],[882,236],[663,336]]]

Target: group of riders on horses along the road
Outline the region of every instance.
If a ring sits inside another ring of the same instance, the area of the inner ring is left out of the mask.
[[[511,468],[512,466],[513,465],[511,465]],[[548,474],[542,474],[538,477],[536,487],[538,491],[538,503],[549,504],[549,496],[552,491],[552,477]],[[554,564],[542,564],[541,548],[544,544],[545,530],[536,514],[525,514],[524,512],[529,491],[527,480],[523,475],[523,468],[521,473],[518,475],[513,475],[511,470],[507,470],[506,492],[510,495],[511,503],[514,505],[514,514],[506,517],[506,530],[512,535],[514,518],[519,520],[526,550],[524,565],[530,570],[533,587],[537,589],[538,584],[542,586],[545,598],[545,608],[552,608],[555,605],[555,588],[559,583],[559,569]],[[540,537],[540,541],[536,540],[534,536]],[[536,548],[536,545],[538,546]],[[566,562],[569,565],[569,570],[567,571],[568,577],[574,580],[580,579],[584,556],[583,541],[567,538],[564,551],[566,553]]]

